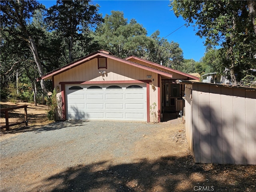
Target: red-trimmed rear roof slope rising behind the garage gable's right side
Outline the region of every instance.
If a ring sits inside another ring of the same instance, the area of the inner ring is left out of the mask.
[[[187,74],[187,73],[184,73],[184,72],[181,72],[181,71],[178,71],[178,70],[175,70],[175,69],[172,69],[172,68],[168,68],[166,66],[162,66],[160,64],[156,64],[154,62],[151,62],[151,61],[148,61],[148,60],[145,60],[145,59],[142,59],[142,58],[138,58],[136,56],[130,56],[130,57],[127,57],[125,58],[126,60],[130,60],[130,59],[134,59],[134,60],[138,60],[138,61],[141,61],[141,62],[145,62],[147,64],[150,64],[152,66],[152,68],[156,68],[158,70],[163,70],[164,72],[169,72],[169,73],[177,73],[177,74],[181,74],[183,76],[186,76],[188,78],[191,78],[193,80],[200,80],[200,78],[192,75],[192,74]]]

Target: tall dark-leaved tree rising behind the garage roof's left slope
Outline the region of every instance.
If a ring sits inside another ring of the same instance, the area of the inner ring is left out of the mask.
[[[91,30],[102,22],[98,5],[89,3],[90,1],[57,0],[56,5],[47,10],[45,22],[49,30],[56,30],[64,38],[68,46],[69,62],[81,57],[81,54],[74,54],[74,46],[77,45],[76,48],[82,50],[87,44],[91,44]]]

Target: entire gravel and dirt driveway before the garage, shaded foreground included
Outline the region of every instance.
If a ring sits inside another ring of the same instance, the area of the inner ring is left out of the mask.
[[[10,131],[1,192],[255,191],[255,166],[193,164],[184,128],[70,121]]]

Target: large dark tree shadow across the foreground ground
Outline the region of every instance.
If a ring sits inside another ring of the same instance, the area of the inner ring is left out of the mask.
[[[43,180],[32,191],[191,192],[255,191],[256,166],[193,164],[192,156],[108,166],[109,162],[70,167]]]

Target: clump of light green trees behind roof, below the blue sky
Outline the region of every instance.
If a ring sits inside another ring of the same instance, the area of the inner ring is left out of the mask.
[[[157,30],[147,36],[146,29],[132,19],[124,18],[124,13],[112,11],[106,15],[102,25],[96,28],[95,39],[102,49],[126,58],[134,55],[146,60],[178,69],[183,61],[183,52],[176,42],[160,38]]]

